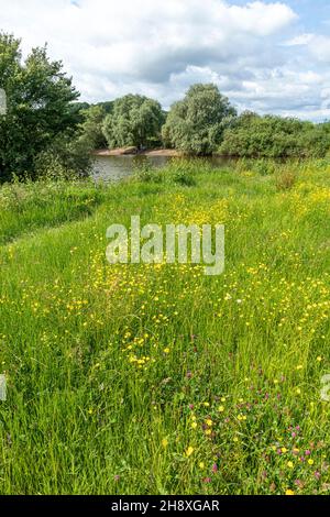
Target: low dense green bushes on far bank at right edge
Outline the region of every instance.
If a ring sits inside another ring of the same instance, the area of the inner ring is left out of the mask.
[[[244,112],[226,130],[220,153],[241,157],[322,157],[329,148],[327,125]]]

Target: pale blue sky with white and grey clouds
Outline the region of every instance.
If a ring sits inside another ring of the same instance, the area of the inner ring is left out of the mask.
[[[0,0],[0,30],[47,42],[81,100],[216,82],[239,110],[330,119],[329,0]]]

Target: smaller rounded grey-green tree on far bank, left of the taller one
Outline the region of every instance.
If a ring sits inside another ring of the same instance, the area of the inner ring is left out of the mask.
[[[106,117],[103,133],[110,148],[154,146],[160,142],[164,113],[160,102],[139,95],[117,99]]]

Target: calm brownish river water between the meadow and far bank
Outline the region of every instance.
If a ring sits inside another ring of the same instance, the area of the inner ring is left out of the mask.
[[[144,162],[148,162],[155,168],[165,167],[173,160],[166,156],[96,156],[94,161],[92,175],[96,179],[105,182],[117,182],[132,176]],[[223,166],[230,163],[229,160],[221,157],[207,158],[215,167]]]

